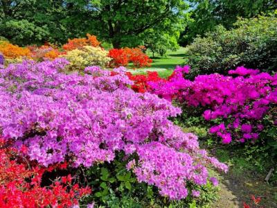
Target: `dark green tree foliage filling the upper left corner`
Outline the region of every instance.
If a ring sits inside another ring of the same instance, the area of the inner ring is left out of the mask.
[[[0,0],[0,36],[21,46],[85,35],[91,14],[70,0]]]

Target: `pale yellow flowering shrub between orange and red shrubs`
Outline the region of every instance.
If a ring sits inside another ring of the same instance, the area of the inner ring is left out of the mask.
[[[63,57],[69,60],[69,69],[79,70],[92,65],[105,66],[111,60],[107,57],[107,51],[92,46],[84,46],[82,49],[68,51]]]

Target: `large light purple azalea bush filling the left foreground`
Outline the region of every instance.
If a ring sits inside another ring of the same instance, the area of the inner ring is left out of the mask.
[[[10,64],[0,71],[0,126],[3,139],[26,146],[44,166],[68,162],[90,167],[112,162],[118,151],[139,182],[170,199],[186,198],[186,184],[208,180],[206,166],[225,164],[199,149],[197,137],[168,117],[181,113],[170,101],[136,93],[124,68],[87,67],[84,76],[62,73],[68,62]]]

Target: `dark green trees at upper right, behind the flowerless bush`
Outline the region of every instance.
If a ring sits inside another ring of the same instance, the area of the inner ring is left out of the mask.
[[[220,24],[230,29],[238,17],[251,18],[273,12],[277,5],[275,0],[191,0],[190,8],[187,26],[179,41],[182,46],[193,42],[197,35],[217,31],[216,26]]]

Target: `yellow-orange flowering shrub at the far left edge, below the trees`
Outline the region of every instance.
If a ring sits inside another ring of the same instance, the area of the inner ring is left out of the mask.
[[[22,48],[17,45],[10,44],[9,42],[1,42],[0,52],[6,58],[21,58],[30,57],[30,49]]]

